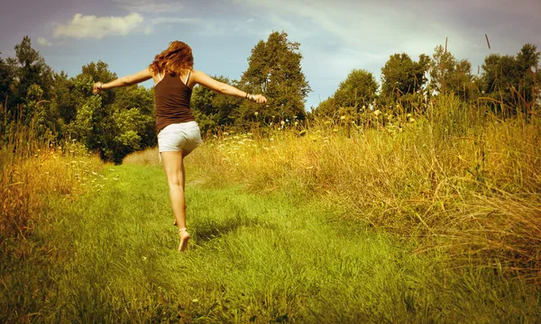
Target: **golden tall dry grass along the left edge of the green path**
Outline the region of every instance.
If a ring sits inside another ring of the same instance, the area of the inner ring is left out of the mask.
[[[14,121],[1,104],[0,110],[5,130],[0,139],[0,245],[5,251],[8,240],[25,237],[45,221],[42,211],[50,195],[72,199],[102,163],[78,143],[38,137],[34,121]]]

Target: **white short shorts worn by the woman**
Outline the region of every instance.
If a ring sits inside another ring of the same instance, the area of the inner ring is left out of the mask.
[[[201,144],[201,131],[196,121],[174,123],[166,126],[158,134],[160,152],[191,151]]]

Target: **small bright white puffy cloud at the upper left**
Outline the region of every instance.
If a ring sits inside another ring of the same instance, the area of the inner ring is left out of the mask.
[[[143,21],[144,18],[141,14],[128,14],[124,17],[75,14],[71,22],[56,24],[54,37],[99,40],[113,35],[125,36],[134,31],[143,31]]]

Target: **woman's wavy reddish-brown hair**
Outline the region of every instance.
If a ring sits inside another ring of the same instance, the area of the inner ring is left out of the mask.
[[[182,72],[194,68],[194,56],[187,43],[174,40],[168,49],[154,57],[149,67],[156,74],[165,71],[170,76],[182,75]]]

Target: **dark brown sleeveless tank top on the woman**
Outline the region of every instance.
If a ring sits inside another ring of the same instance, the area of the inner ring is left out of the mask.
[[[189,79],[186,77],[186,82]],[[159,75],[160,76],[160,75]],[[179,76],[165,73],[160,82],[154,86],[156,103],[156,130],[161,130],[172,123],[195,121],[189,109],[192,89],[185,85]]]

